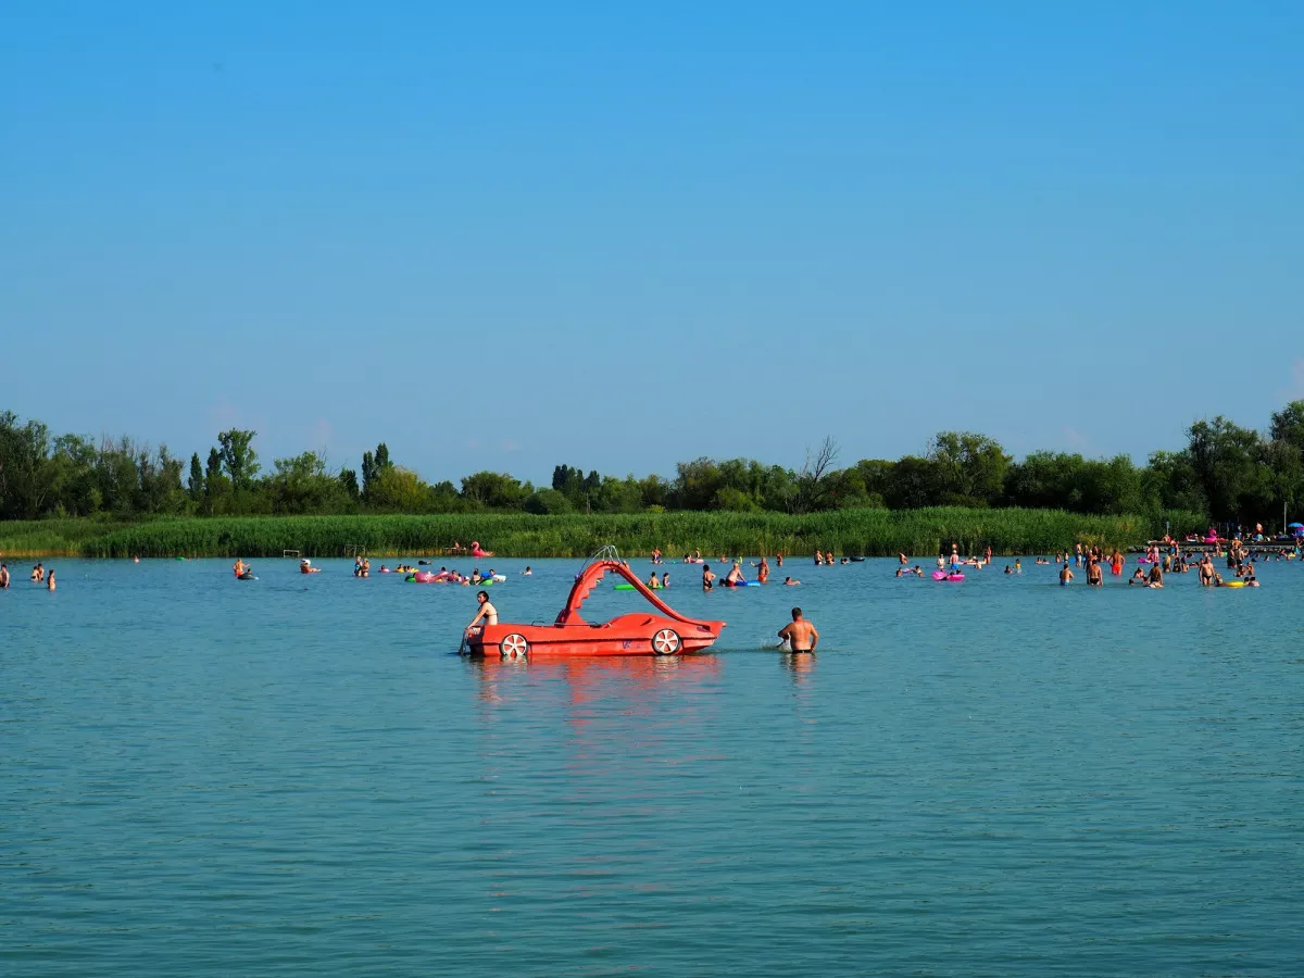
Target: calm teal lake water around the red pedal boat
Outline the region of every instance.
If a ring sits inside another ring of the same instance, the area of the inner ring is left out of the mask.
[[[50,563],[0,592],[5,975],[1301,970],[1299,563],[669,565],[716,653],[531,664],[343,561]],[[503,621],[579,569],[492,563]],[[819,652],[764,649],[798,602]]]

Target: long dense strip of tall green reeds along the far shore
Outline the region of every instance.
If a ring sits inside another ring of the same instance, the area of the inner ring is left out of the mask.
[[[1129,546],[1162,535],[1202,528],[1193,512],[1158,516],[1089,516],[1061,510],[836,510],[806,516],[775,512],[662,512],[630,515],[535,516],[529,514],[447,514],[434,516],[245,516],[164,519],[103,529],[76,527],[52,532],[51,542],[76,540],[86,557],[342,557],[355,548],[373,557],[439,557],[454,541],[479,540],[502,557],[585,557],[605,544],[643,556],[660,548],[666,557],[691,550],[721,554],[810,554],[884,557],[991,546],[998,554],[1052,553],[1074,544]],[[63,520],[60,523],[76,523]],[[0,524],[0,549],[12,527]],[[30,540],[44,540],[35,529]],[[25,548],[23,553],[35,553]],[[61,550],[48,550],[57,553]]]

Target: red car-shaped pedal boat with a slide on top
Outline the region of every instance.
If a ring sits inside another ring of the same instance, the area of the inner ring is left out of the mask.
[[[604,553],[606,553],[604,550]],[[608,572],[625,578],[660,612],[622,614],[585,622],[579,609]],[[675,612],[617,557],[595,558],[575,579],[566,606],[552,625],[486,625],[467,639],[471,655],[524,659],[542,656],[673,656],[708,648],[724,622],[699,622]]]

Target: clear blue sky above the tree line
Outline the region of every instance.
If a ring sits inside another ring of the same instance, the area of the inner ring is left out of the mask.
[[[0,409],[432,480],[1304,396],[1304,5],[23,3]]]

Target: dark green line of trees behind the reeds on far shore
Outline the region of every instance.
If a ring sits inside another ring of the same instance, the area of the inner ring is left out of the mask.
[[[1271,416],[1266,433],[1224,417],[1197,421],[1180,451],[1146,466],[1127,455],[1088,459],[1034,451],[1013,460],[992,438],[940,432],[925,455],[863,459],[838,468],[825,439],[799,469],[754,459],[681,462],[673,479],[623,479],[559,464],[535,486],[506,472],[475,472],[460,485],[426,482],[395,464],[383,442],[357,469],[333,471],[313,451],[263,471],[256,432],[218,434],[189,467],[167,446],[123,437],[52,436],[35,420],[0,413],[0,519],[46,516],[433,514],[475,511],[819,512],[853,507],[1026,506],[1116,515],[1188,510],[1211,520],[1274,524],[1304,498],[1304,400]]]

